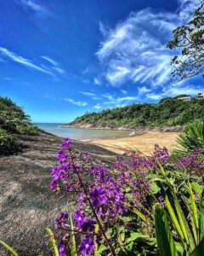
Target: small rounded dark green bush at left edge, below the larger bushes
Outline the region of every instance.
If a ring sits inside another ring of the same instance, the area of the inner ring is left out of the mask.
[[[18,138],[0,128],[0,154],[13,154],[19,149]]]

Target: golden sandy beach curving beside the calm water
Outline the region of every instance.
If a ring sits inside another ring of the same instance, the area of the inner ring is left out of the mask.
[[[142,154],[150,155],[157,143],[169,150],[176,146],[178,132],[146,132],[133,137],[122,137],[114,139],[89,140],[89,143],[109,149],[116,154],[128,154],[132,150]]]

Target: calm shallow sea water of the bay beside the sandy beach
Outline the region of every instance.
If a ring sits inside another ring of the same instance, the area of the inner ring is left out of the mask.
[[[116,131],[116,130],[96,130],[82,128],[63,128],[62,124],[45,124],[38,123],[37,126],[44,131],[48,131],[59,137],[70,137],[76,140],[91,140],[102,138],[128,137],[133,135],[132,131]]]

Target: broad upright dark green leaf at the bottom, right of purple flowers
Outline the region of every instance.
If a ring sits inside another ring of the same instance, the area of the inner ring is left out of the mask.
[[[156,241],[161,256],[177,256],[176,246],[167,222],[167,214],[160,204],[155,205]]]

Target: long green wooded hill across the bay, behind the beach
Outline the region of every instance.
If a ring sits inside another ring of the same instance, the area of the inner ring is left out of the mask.
[[[133,104],[124,108],[107,109],[100,113],[86,113],[71,125],[101,125],[129,128],[139,126],[185,125],[195,119],[203,119],[204,100],[192,99],[183,102],[176,97],[167,97],[158,104]]]

